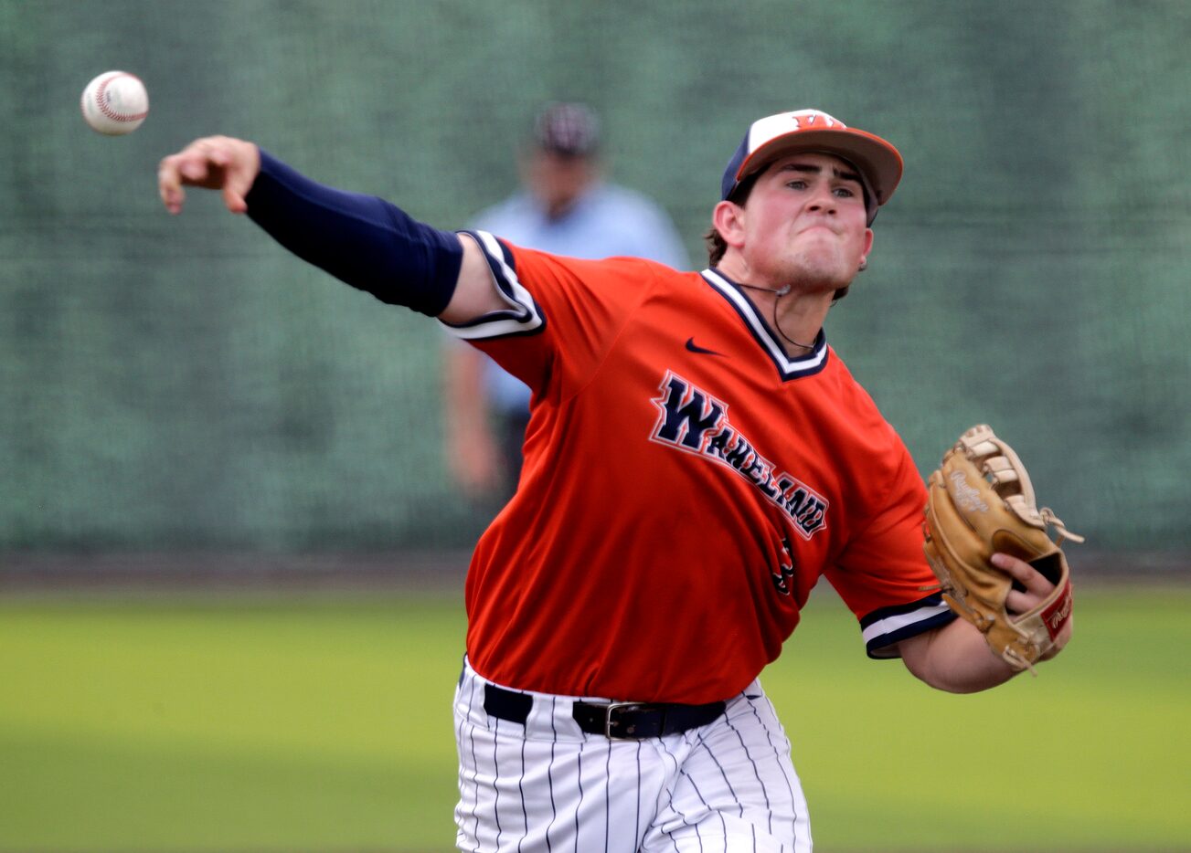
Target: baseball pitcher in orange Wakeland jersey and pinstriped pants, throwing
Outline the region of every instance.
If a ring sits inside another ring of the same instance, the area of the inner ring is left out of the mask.
[[[923,591],[924,484],[823,331],[900,176],[893,145],[823,112],[762,118],[723,174],[711,265],[678,272],[439,231],[243,140],[162,161],[170,212],[183,184],[220,189],[534,391],[520,487],[467,578],[461,849],[810,851],[757,673],[821,576],[869,657],[956,692],[1016,673]],[[1053,589],[993,562],[1017,611]]]

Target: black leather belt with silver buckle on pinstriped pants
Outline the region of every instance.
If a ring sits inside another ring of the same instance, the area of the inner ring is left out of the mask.
[[[525,725],[534,697],[495,684],[484,685],[484,710],[490,716]],[[684,705],[668,702],[575,702],[570,715],[587,734],[613,740],[641,740],[678,734],[713,722],[724,713],[723,702]]]

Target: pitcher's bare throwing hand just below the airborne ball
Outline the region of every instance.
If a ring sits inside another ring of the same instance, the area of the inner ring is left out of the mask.
[[[186,200],[185,186],[223,190],[224,205],[232,213],[244,213],[244,196],[261,170],[256,145],[231,137],[195,139],[157,167],[157,190],[166,209],[180,213]]]

